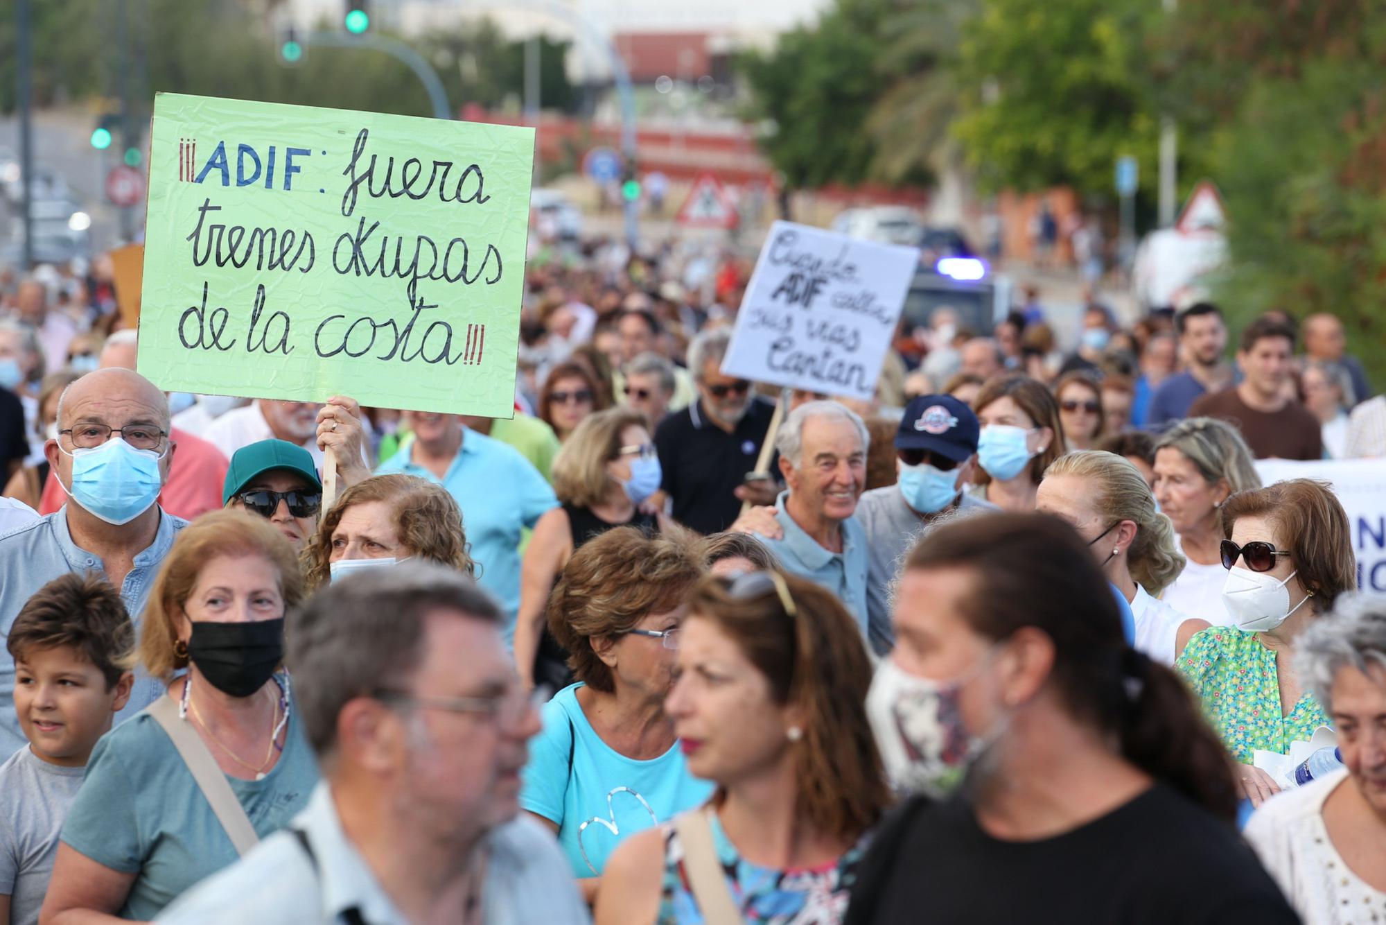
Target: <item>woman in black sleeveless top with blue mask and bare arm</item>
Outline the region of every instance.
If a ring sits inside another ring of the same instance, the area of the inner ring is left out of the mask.
[[[660,458],[633,408],[608,408],[586,417],[553,460],[560,506],[539,517],[520,570],[516,667],[528,686],[557,691],[572,684],[568,653],[545,627],[553,582],[572,553],[613,527],[656,533],[660,521],[640,505],[660,490]]]

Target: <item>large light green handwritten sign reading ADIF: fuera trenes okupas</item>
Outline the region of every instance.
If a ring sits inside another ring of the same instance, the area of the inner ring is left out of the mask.
[[[140,372],[510,417],[534,129],[162,93]]]

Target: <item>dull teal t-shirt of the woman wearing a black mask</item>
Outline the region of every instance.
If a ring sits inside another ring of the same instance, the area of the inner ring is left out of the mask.
[[[317,761],[297,713],[263,781],[227,777],[255,833],[266,838],[308,806]],[[134,874],[121,918],[148,921],[180,893],[237,860],[236,847],[173,742],[139,713],[96,743],[62,842],[112,871]]]

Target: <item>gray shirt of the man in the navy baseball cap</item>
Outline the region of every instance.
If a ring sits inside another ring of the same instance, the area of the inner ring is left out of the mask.
[[[960,510],[980,513],[997,510],[997,505],[962,492],[956,506],[944,508],[936,515],[922,515],[905,503],[900,485],[872,488],[857,502],[857,520],[866,530],[866,613],[872,627],[872,648],[877,655],[890,652],[895,645],[895,632],[890,627],[890,585],[904,564],[905,553],[915,542],[919,531],[940,516]]]

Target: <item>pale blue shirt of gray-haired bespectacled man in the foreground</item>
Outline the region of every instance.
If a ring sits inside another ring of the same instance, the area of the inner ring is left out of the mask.
[[[370,925],[407,925],[374,872],[342,831],[330,786],[323,782],[292,828],[308,836],[273,835],[244,858],[208,878],[155,921],[166,925],[341,925],[356,910]],[[407,836],[407,835],[406,835]],[[568,876],[553,836],[531,818],[517,818],[486,836],[481,914],[486,925],[586,925],[588,910]]]

